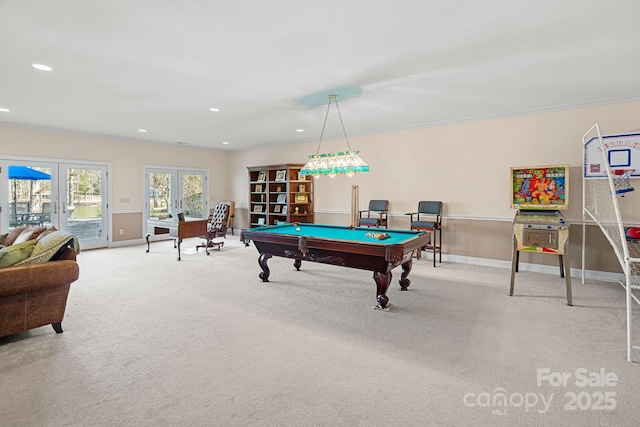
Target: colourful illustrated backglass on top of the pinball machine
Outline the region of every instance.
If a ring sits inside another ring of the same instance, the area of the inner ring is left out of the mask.
[[[511,168],[511,208],[569,208],[569,165]]]

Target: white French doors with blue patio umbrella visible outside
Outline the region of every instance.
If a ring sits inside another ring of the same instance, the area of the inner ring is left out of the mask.
[[[81,249],[108,245],[107,165],[0,159],[2,229],[54,226]]]

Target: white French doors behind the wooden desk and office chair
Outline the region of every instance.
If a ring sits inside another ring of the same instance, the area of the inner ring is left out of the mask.
[[[145,168],[145,214],[149,217],[173,217],[179,213],[185,219],[208,216],[207,171]]]

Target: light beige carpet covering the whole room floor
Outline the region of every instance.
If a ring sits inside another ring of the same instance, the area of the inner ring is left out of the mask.
[[[81,253],[65,332],[0,338],[0,425],[640,424],[617,284],[574,279],[569,307],[559,276],[518,273],[509,297],[508,270],[423,257],[384,312],[371,272],[272,258],[263,283],[253,245],[197,243]],[[544,368],[571,378],[538,385]],[[580,387],[582,368],[616,384]]]

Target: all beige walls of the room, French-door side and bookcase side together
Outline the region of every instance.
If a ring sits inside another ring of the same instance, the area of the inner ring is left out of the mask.
[[[599,123],[604,134],[640,132],[640,103],[531,114],[379,135],[350,137],[354,149],[371,167],[369,174],[316,180],[316,222],[348,224],[351,185],[360,187],[361,205],[369,199],[389,199],[391,227],[407,228],[405,212],[420,200],[444,202],[444,253],[508,260],[511,256],[509,168],[569,164],[572,265],[580,264],[582,230],[582,136]],[[348,114],[344,117],[349,131]],[[117,139],[0,127],[2,155],[99,161],[112,164],[113,223],[138,224],[143,211],[143,165],[208,169],[210,204],[235,200],[235,228],[247,226],[247,167],[304,163],[317,144],[283,145],[226,153],[185,146],[138,144]],[[323,152],[341,151],[344,140],[323,141]],[[638,185],[636,185],[638,186]],[[127,201],[128,200],[128,201]],[[622,204],[640,206],[640,191]],[[625,211],[640,222],[640,210]],[[140,232],[141,233],[141,232]],[[593,235],[593,239],[591,238]],[[138,239],[137,234],[125,236]],[[597,228],[589,232],[587,268],[619,271],[611,249]],[[544,256],[523,262],[554,265]]]

